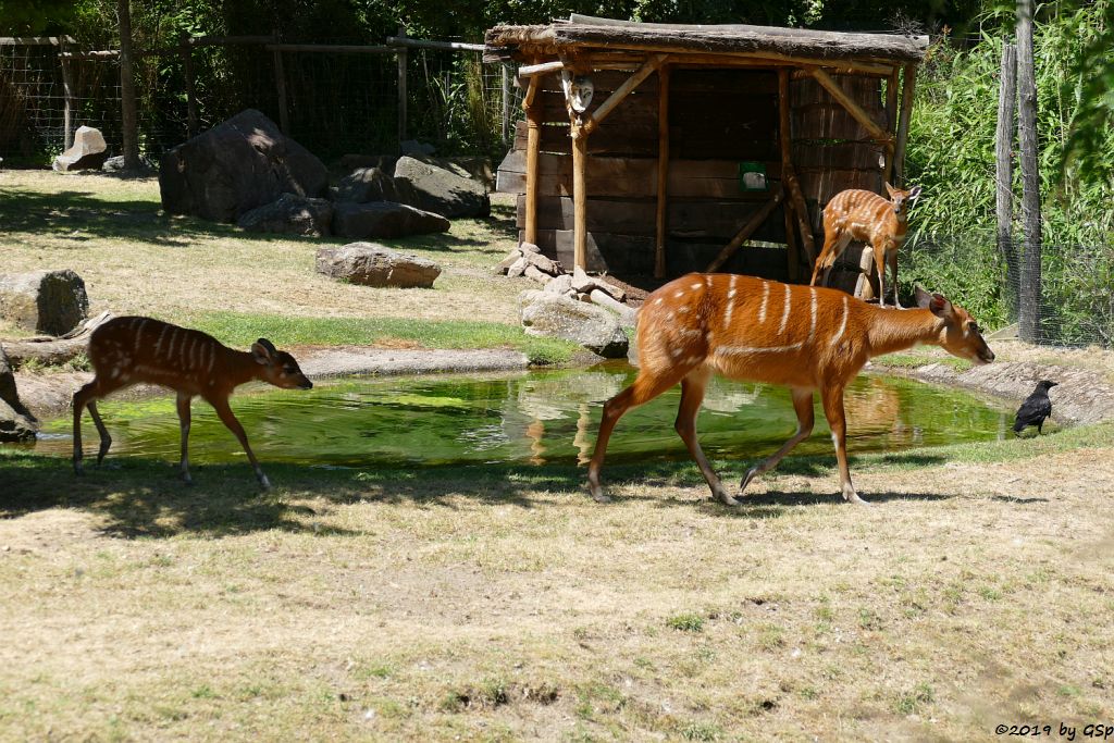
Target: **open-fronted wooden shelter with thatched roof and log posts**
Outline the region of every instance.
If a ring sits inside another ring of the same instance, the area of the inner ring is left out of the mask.
[[[526,90],[498,178],[519,194],[520,241],[588,271],[791,281],[809,277],[828,199],[902,182],[928,47],[576,14],[497,26],[485,41],[485,60],[520,65]],[[761,246],[740,251],[747,241]]]

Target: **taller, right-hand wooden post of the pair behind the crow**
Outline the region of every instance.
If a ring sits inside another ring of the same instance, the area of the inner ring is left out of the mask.
[[[1037,167],[1037,86],[1033,70],[1033,0],[1017,0],[1017,139],[1022,148],[1022,263],[1019,329],[1040,340],[1040,172]]]

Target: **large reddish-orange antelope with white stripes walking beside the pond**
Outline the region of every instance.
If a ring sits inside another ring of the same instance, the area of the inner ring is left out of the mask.
[[[588,465],[593,498],[606,501],[599,469],[619,418],[681,382],[675,428],[700,466],[712,495],[737,501],[712,470],[696,439],[696,413],[712,374],[790,388],[797,432],[772,457],[751,468],[740,492],[812,432],[813,392],[820,391],[832,431],[843,498],[861,504],[847,465],[843,389],[873,356],[918,343],[938,345],[977,364],[994,361],[978,325],[940,294],[917,290],[922,309],[892,312],[839,290],[793,286],[731,274],[688,274],[646,297],[638,311],[638,377],[604,405],[596,451]]]

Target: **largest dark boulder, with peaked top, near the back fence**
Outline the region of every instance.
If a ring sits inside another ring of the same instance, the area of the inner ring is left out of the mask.
[[[274,121],[248,108],[167,151],[158,186],[169,214],[235,222],[282,194],[324,196],[329,173]]]

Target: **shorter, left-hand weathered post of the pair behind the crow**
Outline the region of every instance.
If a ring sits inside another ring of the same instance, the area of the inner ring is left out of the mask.
[[[1017,98],[1017,47],[1001,42],[1001,81],[998,87],[998,130],[995,139],[995,183],[997,185],[998,253],[1006,262],[1006,301],[1009,319],[1017,320],[1017,290],[1020,285],[1017,253],[1014,250],[1014,100]]]

